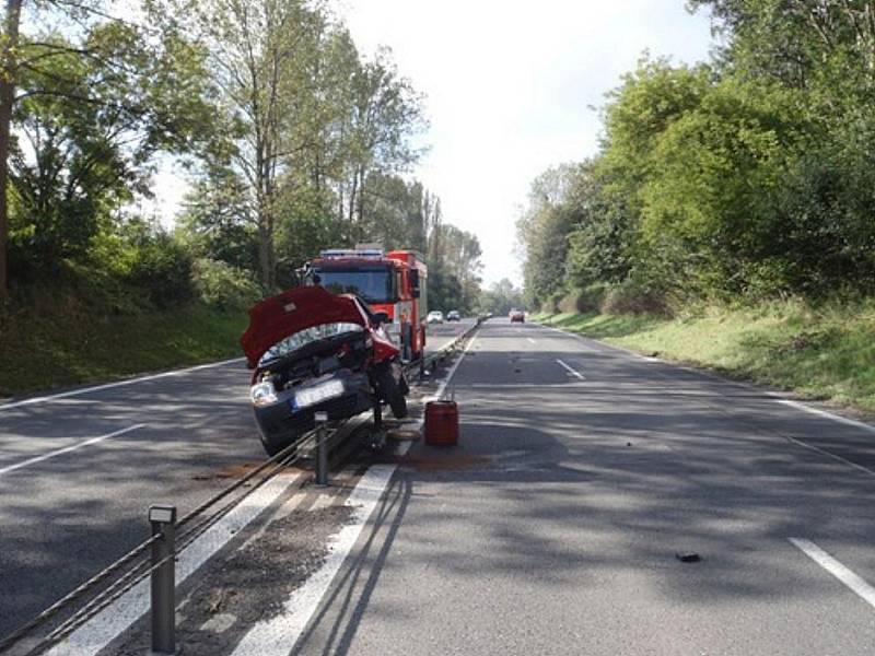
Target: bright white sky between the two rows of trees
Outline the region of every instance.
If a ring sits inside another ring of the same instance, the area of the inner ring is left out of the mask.
[[[593,107],[641,55],[708,58],[710,23],[684,0],[339,0],[360,49],[385,45],[425,94],[412,173],[444,220],[474,232],[483,281],[521,282],[514,223],[529,183],[596,153]]]

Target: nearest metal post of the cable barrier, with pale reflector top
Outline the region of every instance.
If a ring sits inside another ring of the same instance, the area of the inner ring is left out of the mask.
[[[176,506],[149,508],[152,535],[152,649],[150,655],[178,654],[176,649]]]

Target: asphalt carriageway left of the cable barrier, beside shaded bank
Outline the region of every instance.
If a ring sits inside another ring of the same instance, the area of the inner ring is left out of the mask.
[[[248,389],[233,361],[0,405],[0,636],[262,460]]]

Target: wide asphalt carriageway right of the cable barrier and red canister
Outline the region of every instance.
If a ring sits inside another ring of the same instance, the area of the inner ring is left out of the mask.
[[[872,430],[502,319],[454,386],[293,653],[875,651]]]

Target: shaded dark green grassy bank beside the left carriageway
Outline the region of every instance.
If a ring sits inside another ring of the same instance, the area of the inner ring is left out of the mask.
[[[0,398],[242,355],[245,313],[40,293],[0,308]]]

